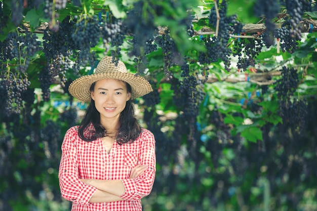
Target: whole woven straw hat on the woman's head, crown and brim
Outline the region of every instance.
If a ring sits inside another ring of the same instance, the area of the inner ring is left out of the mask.
[[[122,61],[118,64],[112,62],[112,57],[105,56],[98,63],[95,74],[85,75],[74,80],[68,88],[69,93],[84,102],[91,101],[91,85],[100,79],[111,78],[123,80],[131,86],[131,99],[135,99],[146,95],[153,91],[150,83],[141,76],[135,76],[133,73],[128,73],[126,65]]]

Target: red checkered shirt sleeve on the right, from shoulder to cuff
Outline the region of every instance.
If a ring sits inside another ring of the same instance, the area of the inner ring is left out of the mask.
[[[140,163],[147,165],[148,168],[137,178],[122,180],[126,191],[120,197],[124,200],[140,200],[152,191],[156,171],[155,139],[154,135],[147,130],[141,133],[140,138],[142,139]]]

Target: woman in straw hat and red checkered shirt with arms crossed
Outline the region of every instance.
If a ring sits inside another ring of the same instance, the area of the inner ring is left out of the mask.
[[[134,117],[132,100],[151,91],[148,81],[108,56],[95,74],[71,83],[69,93],[90,102],[62,144],[59,184],[71,210],[142,210],[155,177],[155,140]]]

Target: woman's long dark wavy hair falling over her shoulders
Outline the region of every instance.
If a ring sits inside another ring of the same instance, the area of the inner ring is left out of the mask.
[[[131,93],[131,86],[126,82],[128,93]],[[94,91],[95,83],[92,84],[90,91]],[[127,101],[125,109],[121,112],[119,117],[119,130],[116,134],[116,142],[118,144],[124,144],[127,142],[134,142],[141,133],[141,126],[138,120],[134,116],[134,105],[132,100]],[[89,130],[90,124],[93,124],[94,128]],[[100,113],[96,109],[95,101],[91,99],[91,102],[86,110],[86,113],[79,125],[78,135],[84,141],[90,142],[98,138],[107,136],[107,131],[100,123]]]

